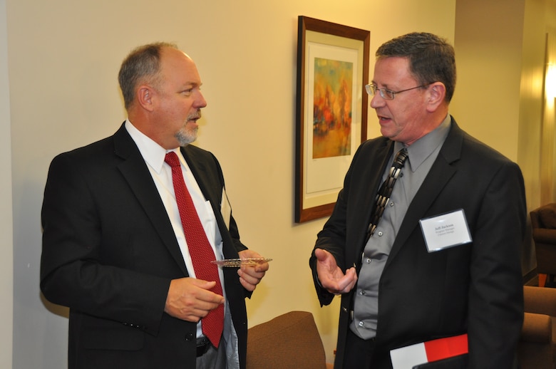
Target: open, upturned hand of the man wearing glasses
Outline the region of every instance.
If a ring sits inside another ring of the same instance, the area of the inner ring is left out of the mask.
[[[319,276],[321,286],[335,295],[347,293],[354,288],[357,281],[355,268],[346,270],[346,274],[336,264],[334,256],[324,249],[315,249],[316,274]]]

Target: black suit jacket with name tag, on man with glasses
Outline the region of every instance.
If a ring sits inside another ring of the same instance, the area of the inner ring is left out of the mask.
[[[361,267],[366,227],[393,142],[359,147],[315,248],[342,270]],[[410,158],[411,160],[411,158]],[[428,253],[419,219],[464,209],[473,243]],[[468,333],[469,368],[510,368],[522,326],[521,243],[525,193],[518,165],[458,128],[451,130],[408,207],[379,282],[372,368],[391,368],[389,351]],[[334,297],[316,280],[321,305]],[[355,289],[354,289],[355,290]],[[335,368],[344,359],[353,293],[341,297]]]

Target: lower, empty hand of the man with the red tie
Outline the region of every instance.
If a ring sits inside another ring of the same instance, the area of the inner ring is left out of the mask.
[[[180,278],[170,281],[164,311],[174,318],[197,323],[208,312],[224,303],[224,297],[210,291],[215,281]]]

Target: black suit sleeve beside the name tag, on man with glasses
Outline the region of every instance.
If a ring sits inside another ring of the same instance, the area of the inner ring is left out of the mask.
[[[520,255],[526,218],[520,169],[504,162],[486,189],[473,232],[469,368],[511,368],[523,320]]]

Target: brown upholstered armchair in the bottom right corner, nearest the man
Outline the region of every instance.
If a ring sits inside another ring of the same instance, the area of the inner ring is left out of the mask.
[[[523,286],[525,316],[518,358],[520,369],[554,369],[556,363],[556,289]]]

